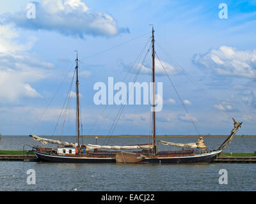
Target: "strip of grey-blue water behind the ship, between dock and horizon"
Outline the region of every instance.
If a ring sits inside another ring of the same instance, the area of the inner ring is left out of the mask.
[[[43,136],[44,138],[51,138],[53,140],[60,140],[60,137]],[[224,142],[225,137],[210,137],[204,138],[205,144],[208,149],[219,147]],[[62,140],[65,142],[76,142],[74,136],[63,136]],[[84,143],[95,144],[95,138],[83,138]],[[157,140],[164,140],[174,143],[191,143],[196,142],[198,137],[170,137],[170,138],[157,138]],[[111,138],[98,138],[97,144],[100,145],[133,145],[152,142],[148,137],[111,137]],[[0,140],[0,150],[22,150],[24,144],[28,145],[42,145],[35,142],[29,136],[2,136]],[[47,144],[46,147],[56,147],[56,145]],[[170,147],[159,145],[159,150],[169,149]],[[172,147],[173,149],[180,149],[179,147]],[[29,147],[26,147],[29,149]],[[30,148],[31,149],[31,148]],[[256,151],[256,137],[235,137],[231,143],[228,144],[225,152],[254,152]]]

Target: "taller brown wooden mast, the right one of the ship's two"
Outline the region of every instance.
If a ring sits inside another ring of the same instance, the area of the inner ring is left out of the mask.
[[[156,95],[155,95],[155,46],[154,46],[154,26],[152,26],[152,82],[153,82],[153,145],[156,154]]]

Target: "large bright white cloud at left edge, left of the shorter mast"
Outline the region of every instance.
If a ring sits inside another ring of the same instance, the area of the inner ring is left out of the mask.
[[[6,33],[4,32],[6,31]],[[26,52],[34,40],[19,44],[19,36],[10,26],[0,26],[0,101],[17,102],[20,98],[42,97],[31,83],[49,77],[53,65],[40,61],[36,55]],[[29,45],[29,46],[28,46]]]

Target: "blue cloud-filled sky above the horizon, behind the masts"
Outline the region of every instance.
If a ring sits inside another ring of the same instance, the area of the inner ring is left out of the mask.
[[[0,133],[76,134],[74,84],[67,94],[77,50],[83,135],[152,134],[150,105],[93,100],[109,77],[149,84],[150,24],[163,83],[157,135],[229,135],[232,117],[243,122],[237,135],[256,135],[256,1],[242,0],[1,1]]]

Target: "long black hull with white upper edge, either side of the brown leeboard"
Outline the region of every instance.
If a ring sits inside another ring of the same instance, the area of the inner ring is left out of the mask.
[[[146,157],[138,163],[206,164],[215,159],[220,152],[221,150],[205,154],[196,154],[195,156]],[[115,158],[56,156],[36,151],[35,155],[39,161],[54,163],[116,163]]]

